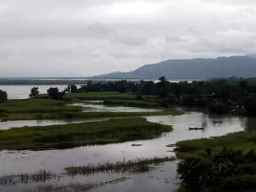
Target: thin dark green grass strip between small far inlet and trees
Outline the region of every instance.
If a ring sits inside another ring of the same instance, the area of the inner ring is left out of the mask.
[[[121,105],[138,108],[157,108],[160,107],[157,102],[148,102],[142,100],[104,100],[104,104]]]

